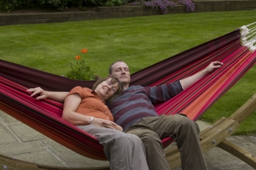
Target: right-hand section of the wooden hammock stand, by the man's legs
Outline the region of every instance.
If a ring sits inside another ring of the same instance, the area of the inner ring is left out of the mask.
[[[222,117],[213,125],[209,126],[205,130],[200,132],[200,145],[203,152],[211,150],[213,147],[219,147],[222,150],[229,152],[230,154],[236,156],[237,158],[244,161],[252,168],[256,169],[256,155],[252,155],[250,152],[244,150],[232,142],[227,140],[227,137],[233,134],[244,120],[246,120],[249,115],[252,115],[256,110],[256,93],[249,98],[246,103],[240,107],[233,115],[230,117]],[[167,161],[170,168],[175,168],[181,165],[181,160],[177,147],[173,147],[165,152],[167,156]]]

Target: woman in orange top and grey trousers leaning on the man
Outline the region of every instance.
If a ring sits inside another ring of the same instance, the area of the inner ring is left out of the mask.
[[[143,142],[138,136],[122,132],[123,129],[113,123],[113,116],[105,105],[106,101],[121,96],[121,83],[116,78],[102,78],[92,89],[78,86],[70,90],[64,100],[62,118],[99,139],[110,161],[110,170],[148,170]],[[29,89],[34,92],[31,96],[38,90],[42,89]],[[50,92],[43,93],[50,98]]]

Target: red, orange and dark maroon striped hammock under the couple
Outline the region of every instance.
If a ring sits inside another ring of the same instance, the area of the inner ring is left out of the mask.
[[[159,115],[178,112],[197,120],[256,62],[255,23],[243,26],[217,39],[193,47],[164,61],[132,74],[131,85],[161,85],[188,77],[211,61],[224,63],[178,96],[157,104]],[[91,88],[94,81],[69,80],[65,77],[0,60],[0,109],[31,128],[59,142],[80,155],[106,160],[97,138],[61,119],[63,104],[30,97],[27,88],[69,91],[75,86]],[[164,147],[171,138],[162,140]]]

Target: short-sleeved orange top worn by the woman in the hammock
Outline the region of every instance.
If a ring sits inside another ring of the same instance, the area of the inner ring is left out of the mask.
[[[77,86],[73,88],[71,91],[69,91],[67,96],[73,93],[78,93],[82,98],[78,106],[78,109],[75,112],[78,112],[86,116],[102,118],[105,120],[114,120],[113,115],[110,112],[110,109],[108,109],[108,107],[99,98],[99,96],[94,90]]]

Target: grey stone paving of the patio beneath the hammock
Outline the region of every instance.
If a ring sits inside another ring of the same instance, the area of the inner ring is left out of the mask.
[[[208,128],[210,124],[198,120],[200,130]],[[48,166],[70,168],[85,168],[108,166],[108,161],[97,161],[78,155],[76,152],[39,134],[18,120],[0,111],[0,154],[12,158],[39,163]],[[255,136],[230,136],[230,142],[238,144],[256,155]],[[174,145],[173,143],[172,145]],[[252,170],[253,168],[230,153],[214,147],[205,153],[209,170]],[[1,168],[1,167],[0,167]],[[174,170],[181,170],[178,167]]]

